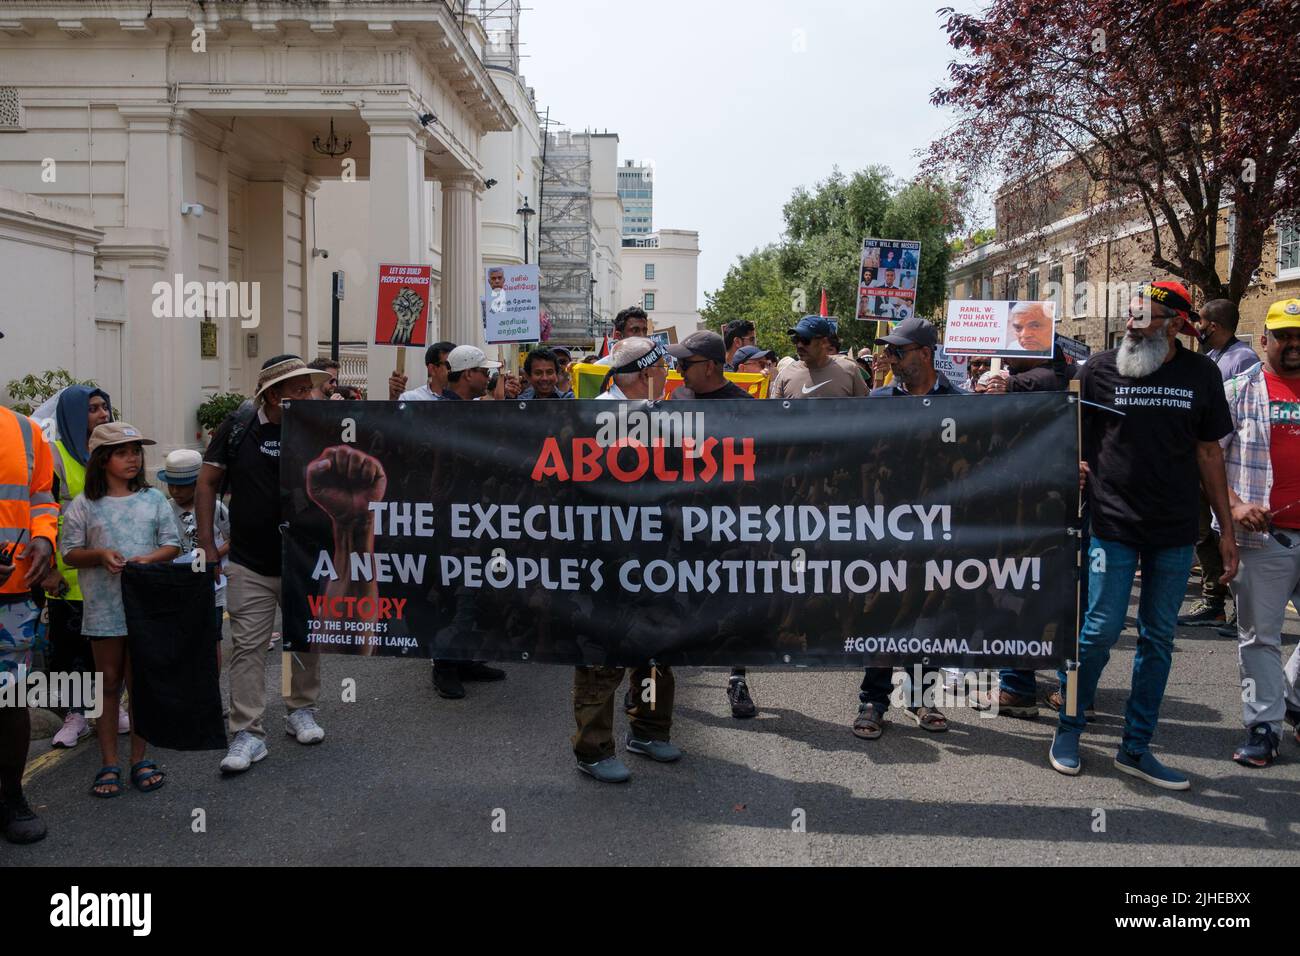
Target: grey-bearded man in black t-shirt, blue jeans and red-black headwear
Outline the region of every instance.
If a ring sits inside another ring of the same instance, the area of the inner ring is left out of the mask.
[[[1165,790],[1191,783],[1150,753],[1169,680],[1178,609],[1187,591],[1205,488],[1223,528],[1232,527],[1219,438],[1232,431],[1223,380],[1204,355],[1178,343],[1190,328],[1191,297],[1178,282],[1150,282],[1128,306],[1118,349],[1083,367],[1082,454],[1092,510],[1088,610],[1079,632],[1079,700],[1061,710],[1049,754],[1053,769],[1080,770],[1079,735],[1101,671],[1123,631],[1134,575],[1141,567],[1138,653],[1115,767]],[[1223,583],[1236,574],[1236,542],[1221,541]],[[1065,685],[1065,674],[1061,674]]]

